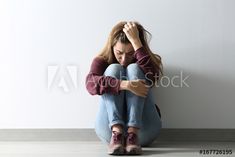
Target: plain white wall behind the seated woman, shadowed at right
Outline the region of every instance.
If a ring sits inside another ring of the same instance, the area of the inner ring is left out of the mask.
[[[120,20],[139,21],[152,33],[151,48],[162,56],[166,76],[188,76],[189,87],[156,89],[165,128],[235,128],[234,5],[0,1],[0,128],[93,128],[99,97],[88,94],[85,76]],[[54,78],[49,89],[48,71]]]

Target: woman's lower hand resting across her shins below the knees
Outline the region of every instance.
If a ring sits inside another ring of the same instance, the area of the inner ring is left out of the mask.
[[[120,89],[129,90],[137,96],[146,97],[149,86],[145,83],[145,80],[123,80],[121,81]]]

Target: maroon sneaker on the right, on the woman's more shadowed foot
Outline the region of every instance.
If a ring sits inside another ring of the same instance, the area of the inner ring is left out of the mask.
[[[126,154],[129,154],[129,155],[142,154],[142,149],[141,149],[141,146],[139,145],[138,136],[133,132],[127,134]]]

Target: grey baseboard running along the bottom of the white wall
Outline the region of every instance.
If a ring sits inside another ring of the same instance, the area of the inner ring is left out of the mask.
[[[0,129],[0,141],[98,141],[94,129]],[[235,129],[163,128],[157,141],[235,142]]]

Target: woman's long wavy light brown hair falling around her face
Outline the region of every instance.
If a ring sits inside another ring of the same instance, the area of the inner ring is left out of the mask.
[[[113,46],[120,41],[123,44],[128,44],[130,41],[128,40],[126,34],[123,32],[124,25],[126,24],[126,21],[121,21],[118,24],[116,24],[112,31],[109,34],[108,41],[106,42],[104,48],[100,51],[98,54],[98,57],[102,57],[105,59],[108,64],[116,63],[116,58],[113,53]],[[154,64],[156,70],[159,71],[159,76],[163,75],[163,66],[161,57],[158,54],[154,54],[148,45],[148,37],[151,39],[151,33],[149,33],[147,30],[144,29],[144,27],[139,24],[138,22],[134,22],[137,26],[137,29],[139,31],[139,38],[140,41],[145,48],[146,52],[150,55],[151,61]]]

